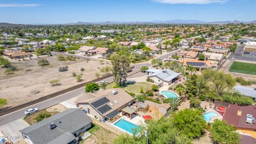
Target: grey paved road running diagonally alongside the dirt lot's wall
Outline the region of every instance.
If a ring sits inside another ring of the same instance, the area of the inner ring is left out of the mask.
[[[177,52],[178,51],[169,52],[169,53],[166,53],[166,54],[163,54],[163,55],[157,57],[156,59],[165,59],[167,57],[171,57],[171,55],[173,55],[173,54],[175,54]],[[129,73],[129,75],[137,73],[138,71],[140,71],[139,68],[142,67],[142,66],[148,66],[148,67],[151,66],[151,63],[150,62],[142,62],[142,63],[134,64],[132,66],[134,66],[135,68],[132,70],[131,73]],[[113,82],[113,77],[104,79],[103,81]],[[53,106],[53,105],[55,105],[55,104],[57,104],[59,102],[62,102],[62,101],[74,98],[77,95],[80,95],[80,94],[82,94],[84,92],[85,92],[84,87],[81,87],[81,88],[76,89],[74,91],[70,91],[68,93],[61,94],[58,97],[54,97],[52,99],[45,100],[45,101],[42,101],[40,103],[36,103],[35,105],[29,106],[29,107],[26,107],[26,108],[22,108],[20,110],[14,111],[14,112],[12,112],[10,114],[1,116],[0,117],[0,126],[4,125],[4,124],[7,124],[7,123],[10,123],[12,121],[15,121],[15,120],[17,120],[19,118],[24,117],[25,116],[25,114],[24,114],[25,110],[27,110],[29,108],[35,108],[36,107],[38,109],[45,109],[45,108],[51,107],[51,106]]]

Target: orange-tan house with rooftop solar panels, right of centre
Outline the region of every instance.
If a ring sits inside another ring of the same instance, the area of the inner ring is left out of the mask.
[[[186,67],[187,65],[193,66],[199,71],[205,68],[211,67],[210,61],[202,61],[202,60],[195,60],[195,59],[180,60],[180,64],[183,67]]]

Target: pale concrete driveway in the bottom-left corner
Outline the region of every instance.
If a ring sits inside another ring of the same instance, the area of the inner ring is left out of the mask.
[[[22,139],[22,134],[19,130],[28,127],[29,124],[24,122],[22,118],[0,126],[0,130],[4,133],[5,137],[8,137],[13,143]]]

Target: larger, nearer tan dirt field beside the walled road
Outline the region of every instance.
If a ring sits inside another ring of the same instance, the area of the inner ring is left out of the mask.
[[[98,61],[88,61],[87,63],[83,59],[83,62],[68,65],[69,70],[66,72],[59,72],[59,67],[57,67],[27,75],[2,79],[0,80],[0,95],[2,98],[7,99],[7,106],[17,106],[82,83],[77,82],[76,77],[72,76],[73,71],[76,72],[77,75],[82,74],[83,82],[91,81],[96,78],[95,73],[99,72],[99,68],[103,66],[106,66],[106,64],[101,65]],[[84,68],[85,71],[81,71],[81,68]],[[49,83],[52,79],[59,79],[61,85],[52,86]]]

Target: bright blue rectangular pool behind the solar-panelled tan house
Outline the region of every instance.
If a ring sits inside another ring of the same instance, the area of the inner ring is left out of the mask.
[[[127,132],[130,132],[131,134],[133,134],[133,132],[132,132],[133,129],[140,129],[140,126],[135,125],[131,122],[125,121],[124,119],[120,119],[114,125],[120,127],[121,129],[123,129]],[[138,132],[136,132],[135,134],[138,134]]]

